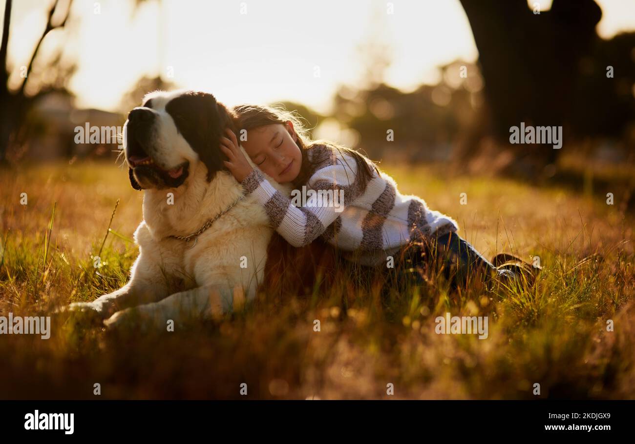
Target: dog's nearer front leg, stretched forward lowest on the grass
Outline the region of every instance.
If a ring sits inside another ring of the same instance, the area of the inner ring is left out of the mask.
[[[251,298],[250,298],[251,299]],[[204,319],[218,320],[225,314],[241,310],[245,297],[243,287],[204,285],[166,297],[162,301],[117,311],[104,321],[109,329],[123,325],[140,325],[149,329],[165,329],[169,321],[187,325]]]

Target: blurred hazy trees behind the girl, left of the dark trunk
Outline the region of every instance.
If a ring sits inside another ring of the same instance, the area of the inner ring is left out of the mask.
[[[461,67],[471,75],[460,77]],[[439,84],[411,93],[384,83],[364,89],[341,86],[333,118],[359,134],[357,148],[373,159],[447,160],[455,142],[477,121],[482,81],[478,68],[462,60],[439,69]]]

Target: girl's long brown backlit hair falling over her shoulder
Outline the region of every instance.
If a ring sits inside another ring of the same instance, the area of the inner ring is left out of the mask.
[[[309,131],[302,123],[302,117],[286,110],[284,107],[268,107],[264,105],[238,105],[234,107],[234,112],[237,114],[237,129],[242,131],[250,131],[251,129],[262,127],[271,124],[283,124],[291,121],[293,129],[297,134],[297,145],[302,152],[302,166],[300,167],[300,174],[293,181],[293,185],[300,186],[309,180],[309,176],[312,173],[312,166],[323,162],[326,159],[312,159],[309,160],[308,150],[317,145],[328,145],[331,148],[338,150],[340,153],[350,155],[355,159],[358,171],[358,180],[363,188],[366,188],[366,183],[373,177],[373,170],[378,172],[376,166],[370,163],[370,160],[364,157],[363,154],[352,150],[351,148],[344,147],[338,143],[333,143],[328,140],[311,140]],[[326,152],[326,155],[330,153]]]

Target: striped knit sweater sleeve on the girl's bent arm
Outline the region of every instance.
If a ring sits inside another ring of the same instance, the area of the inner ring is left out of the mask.
[[[361,194],[355,173],[355,162],[341,158],[335,165],[318,169],[307,183],[306,202],[302,202],[302,190],[293,190],[290,199],[276,190],[257,168],[241,185],[264,206],[279,235],[294,247],[302,247],[324,233],[344,211],[344,206]]]

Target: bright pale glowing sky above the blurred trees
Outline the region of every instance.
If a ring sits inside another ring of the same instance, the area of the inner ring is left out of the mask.
[[[635,29],[635,0],[596,1],[602,37]],[[50,3],[14,1],[9,57],[18,67],[28,62]],[[361,79],[356,46],[372,35],[392,48],[386,81],[406,90],[437,82],[438,65],[478,56],[458,0],[150,0],[136,15],[132,4],[74,2],[72,16],[81,20],[67,25],[73,37],[64,40],[64,54],[79,60],[70,82],[79,107],[115,110],[141,75],[161,70],[227,105],[293,100],[328,112],[338,84]],[[60,44],[55,34],[44,41],[47,53]]]

